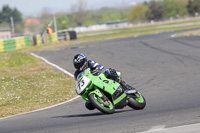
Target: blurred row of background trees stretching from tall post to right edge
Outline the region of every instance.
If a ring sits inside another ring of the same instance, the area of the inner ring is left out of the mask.
[[[84,9],[83,3],[77,3],[71,14],[58,15],[58,29],[86,26],[107,21],[128,20],[132,23],[161,21],[186,16],[197,16],[200,13],[200,0],[151,0],[134,7],[101,8],[96,11]]]

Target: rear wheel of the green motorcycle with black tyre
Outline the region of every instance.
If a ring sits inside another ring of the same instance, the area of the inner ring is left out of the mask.
[[[135,109],[140,110],[143,109],[146,106],[146,100],[145,98],[140,94],[140,97],[135,97],[133,95],[129,95],[128,99],[128,106]]]

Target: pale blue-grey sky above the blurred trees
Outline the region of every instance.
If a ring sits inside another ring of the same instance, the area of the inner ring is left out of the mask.
[[[39,16],[42,11],[48,10],[50,13],[70,12],[72,5],[79,0],[0,0],[0,10],[3,5],[16,7],[23,17]],[[86,3],[86,9],[99,9],[101,7],[125,7],[134,6],[145,0],[83,0]]]

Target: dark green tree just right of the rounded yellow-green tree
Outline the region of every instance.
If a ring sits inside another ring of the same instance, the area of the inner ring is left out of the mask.
[[[148,20],[159,21],[164,18],[164,8],[162,1],[150,1],[149,3],[145,2],[148,9],[146,12],[146,18]]]

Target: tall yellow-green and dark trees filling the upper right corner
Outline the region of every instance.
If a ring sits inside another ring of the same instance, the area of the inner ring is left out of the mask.
[[[128,20],[130,22],[160,21],[197,16],[200,13],[200,0],[162,0],[144,2],[131,8]]]

